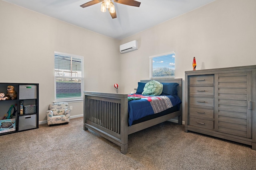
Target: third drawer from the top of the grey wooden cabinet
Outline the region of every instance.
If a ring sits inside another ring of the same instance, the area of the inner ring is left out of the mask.
[[[200,107],[214,107],[214,97],[212,98],[202,98],[202,97],[189,97],[190,106],[200,106]]]

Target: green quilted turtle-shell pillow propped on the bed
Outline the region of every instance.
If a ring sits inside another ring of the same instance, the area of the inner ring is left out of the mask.
[[[163,91],[163,85],[156,80],[151,80],[145,84],[142,94],[148,96],[159,96]]]

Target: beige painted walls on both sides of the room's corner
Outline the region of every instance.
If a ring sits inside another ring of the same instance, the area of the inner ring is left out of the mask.
[[[118,83],[120,93],[130,93],[149,78],[152,55],[175,51],[176,78],[183,79],[193,57],[196,69],[256,64],[255,30],[255,0],[216,0],[122,41],[0,0],[0,82],[39,83],[45,121],[54,101],[54,51],[84,56],[85,90],[115,93]],[[132,40],[139,49],[120,54],[119,45]],[[82,115],[82,102],[70,105],[73,117]]]

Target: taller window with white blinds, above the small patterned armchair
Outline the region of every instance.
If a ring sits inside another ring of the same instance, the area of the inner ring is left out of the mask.
[[[55,101],[82,100],[84,57],[54,53]]]

